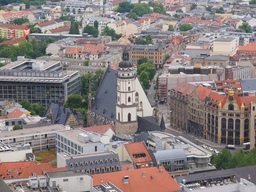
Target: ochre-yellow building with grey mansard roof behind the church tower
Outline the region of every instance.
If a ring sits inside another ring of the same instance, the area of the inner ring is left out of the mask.
[[[163,68],[166,55],[169,55],[169,46],[159,42],[158,45],[133,45],[131,47],[131,61],[137,64],[141,57],[148,58],[157,68]]]

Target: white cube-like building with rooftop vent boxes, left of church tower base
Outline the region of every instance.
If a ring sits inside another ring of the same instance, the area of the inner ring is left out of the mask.
[[[69,155],[105,151],[99,134],[73,129],[56,132],[56,152]]]

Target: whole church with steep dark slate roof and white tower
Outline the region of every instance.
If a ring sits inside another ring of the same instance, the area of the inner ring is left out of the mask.
[[[130,135],[162,131],[158,125],[158,105],[151,105],[146,96],[127,49],[117,70],[107,68],[95,98],[89,90],[87,127],[107,124],[112,124],[116,133]]]

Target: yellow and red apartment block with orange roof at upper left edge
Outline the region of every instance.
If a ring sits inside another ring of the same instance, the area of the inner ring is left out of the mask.
[[[30,29],[23,25],[3,23],[0,25],[0,34],[2,38],[6,39],[26,38],[30,34]]]

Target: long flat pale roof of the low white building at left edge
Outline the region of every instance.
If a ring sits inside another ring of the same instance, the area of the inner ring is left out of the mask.
[[[31,129],[21,129],[17,131],[6,131],[3,133],[0,133],[0,140],[5,140],[7,137],[26,137],[26,135],[31,135],[31,134],[44,134],[47,132],[52,132],[52,131],[62,131],[66,130],[66,127],[64,125],[51,125],[51,126],[46,126],[46,127],[40,127],[40,128],[31,128]]]

